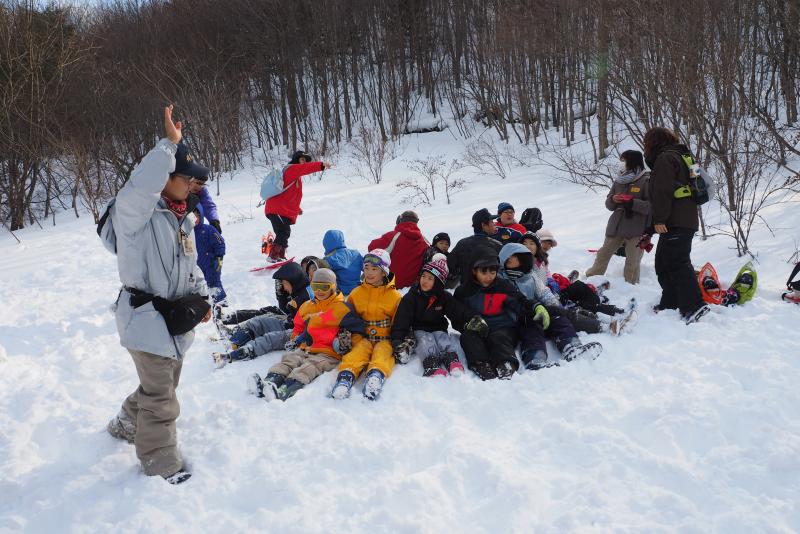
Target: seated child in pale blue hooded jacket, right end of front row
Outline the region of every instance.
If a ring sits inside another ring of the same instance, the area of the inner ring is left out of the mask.
[[[500,262],[502,278],[512,281],[527,298],[547,306],[550,321],[549,328],[545,328],[545,336],[555,342],[565,360],[572,361],[580,355],[596,358],[600,354],[602,346],[596,342],[582,344],[558,298],[553,296],[555,300],[550,299],[552,292],[546,283],[536,276],[534,267],[536,259],[527,247],[519,243],[503,245],[500,249]],[[521,357],[526,369],[535,371],[553,365],[548,364],[547,348],[538,325],[523,323],[521,337]]]

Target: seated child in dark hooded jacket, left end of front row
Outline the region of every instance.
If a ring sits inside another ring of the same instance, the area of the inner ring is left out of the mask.
[[[215,352],[218,367],[236,360],[249,360],[280,350],[289,340],[298,308],[313,298],[308,277],[302,267],[294,262],[281,265],[272,275],[278,307],[267,306],[258,310],[236,310],[224,315],[223,323],[243,322],[229,336],[231,351]]]

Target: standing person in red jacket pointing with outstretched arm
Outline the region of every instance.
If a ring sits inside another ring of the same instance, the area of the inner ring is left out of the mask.
[[[286,190],[267,199],[264,215],[272,223],[275,232],[275,242],[269,251],[269,258],[272,261],[286,259],[286,249],[289,248],[289,236],[292,233],[291,226],[297,221],[297,217],[303,214],[303,210],[300,209],[300,201],[303,200],[301,178],[332,167],[330,163],[311,161],[311,159],[311,156],[302,150],[292,154],[291,161],[283,169],[283,187]]]

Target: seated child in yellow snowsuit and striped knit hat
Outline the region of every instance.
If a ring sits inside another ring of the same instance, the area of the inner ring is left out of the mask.
[[[385,250],[370,251],[364,256],[364,281],[347,297],[348,304],[364,320],[367,337],[353,336],[353,348],[339,364],[339,376],[331,391],[334,399],[350,396],[353,383],[366,367],[364,396],[375,400],[392,372],[395,359],[389,335],[402,295],[395,289],[390,263]]]

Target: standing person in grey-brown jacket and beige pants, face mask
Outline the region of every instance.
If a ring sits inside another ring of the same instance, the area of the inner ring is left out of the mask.
[[[650,173],[645,170],[642,153],[638,150],[626,150],[619,159],[622,168],[614,177],[606,196],[606,208],[612,213],[606,224],[605,241],[597,251],[594,264],[586,271],[586,276],[605,274],[611,256],[624,245],[625,281],[638,284],[644,254],[644,250],[639,248],[639,240],[650,216]]]

